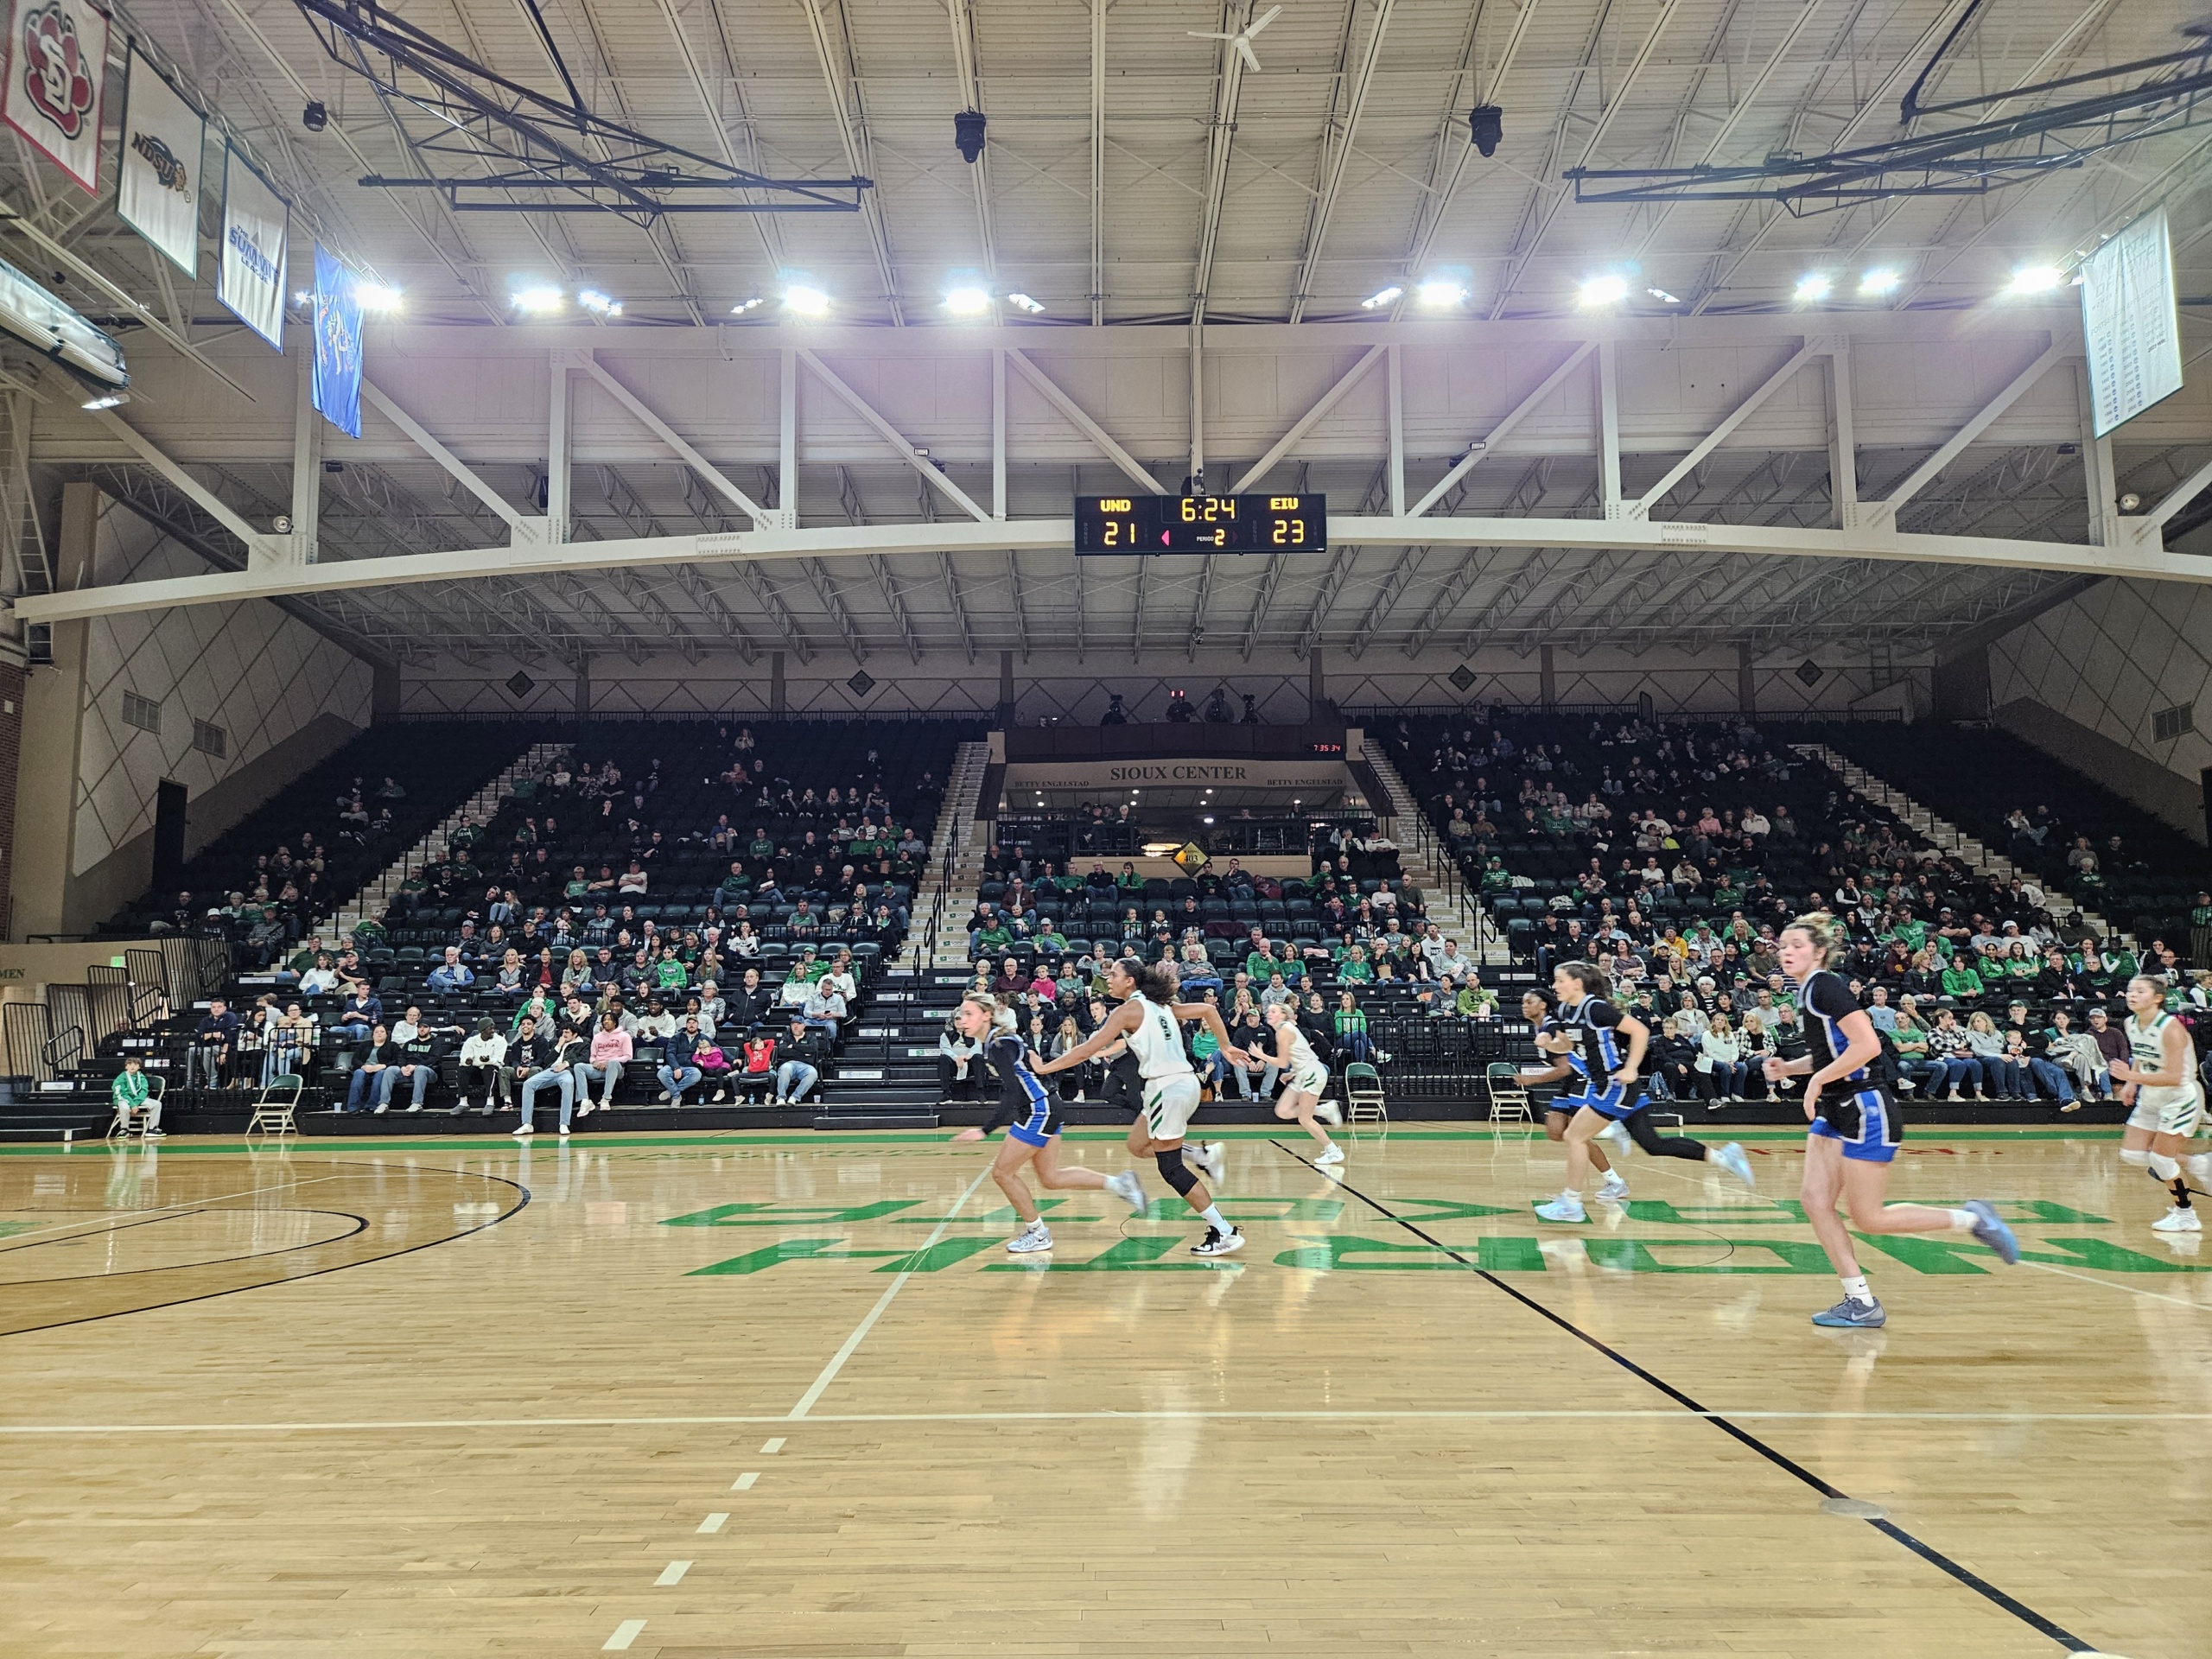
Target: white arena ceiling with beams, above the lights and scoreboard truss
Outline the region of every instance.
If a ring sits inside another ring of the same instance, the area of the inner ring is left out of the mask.
[[[975,0],[553,0],[538,7],[540,33],[526,0],[405,7],[414,27],[564,97],[557,55],[593,111],[699,155],[774,177],[874,179],[856,215],[686,215],[648,226],[606,212],[453,212],[429,190],[361,188],[363,175],[449,170],[451,159],[425,153],[431,126],[418,111],[380,100],[334,64],[290,0],[133,0],[119,15],[254,148],[301,228],[405,290],[411,334],[529,332],[535,323],[511,294],[549,283],[619,299],[619,321],[564,334],[571,345],[584,336],[582,349],[708,325],[717,336],[759,327],[787,338],[792,319],[779,296],[803,274],[830,296],[841,338],[958,330],[942,299],[964,281],[1033,296],[1042,312],[1000,305],[989,321],[1000,338],[1033,336],[1040,352],[1066,330],[1188,330],[1201,319],[1210,334],[1305,323],[1343,327],[1349,338],[1385,319],[1440,330],[1460,319],[1573,319],[1584,276],[1632,270],[1646,292],[1632,292],[1621,316],[1655,327],[1741,321],[1763,330],[1750,338],[1770,338],[1778,321],[1805,334],[1823,325],[1794,299],[1807,272],[1829,274],[1840,296],[1863,270],[1898,272],[1896,290],[1878,301],[1838,301],[1854,312],[1973,316],[2017,268],[2066,263],[2157,204],[2174,221],[2181,292],[2212,294],[2208,128],[2152,135],[1982,197],[1907,197],[1820,215],[1756,201],[1588,206],[1559,179],[1571,166],[1732,164],[1893,137],[1900,95],[1966,0],[1285,0],[1254,35],[1259,73],[1230,44],[1192,38],[1232,33],[1256,11],[1243,0],[1115,0],[1097,11]],[[2170,0],[1986,0],[1922,102],[2168,53],[2183,44],[2181,22]],[[301,124],[310,100],[330,113],[316,133]],[[1464,117],[1478,102],[1502,108],[1493,157],[1467,142]],[[978,164],[953,150],[960,108],[989,117]],[[58,270],[44,259],[49,246],[142,296],[210,361],[239,365],[265,349],[239,341],[208,290],[208,261],[199,288],[157,268],[113,217],[113,192],[82,197],[18,142],[0,146],[0,199],[29,219],[0,226],[0,248],[27,270],[58,274],[86,312],[113,314],[113,296],[75,268]],[[303,246],[296,237],[294,259]],[[1431,276],[1464,288],[1444,319],[1425,316],[1405,294],[1360,305]],[[732,307],[752,299],[763,303],[734,319]],[[128,341],[135,365],[166,354],[144,330]],[[372,336],[372,376],[376,349]],[[2192,334],[2190,349],[2203,349],[2201,336]],[[175,385],[148,378],[157,394]],[[226,447],[210,440],[228,420],[219,398],[170,394],[126,414],[230,511],[254,524],[285,511],[288,416],[268,442]],[[40,407],[31,434],[42,465],[97,473],[212,555],[243,564],[219,518],[66,405]],[[1666,471],[1694,434],[1648,462],[1628,456],[1630,489]],[[526,504],[542,487],[544,467],[504,458],[500,445],[471,449],[471,431],[456,427],[440,438],[511,502]],[[1761,422],[1752,422],[1714,449],[1668,493],[1666,511],[1767,526],[1836,522],[1820,447],[1759,438]],[[922,445],[927,434],[907,440]],[[1860,445],[1867,498],[1936,449],[1882,434]],[[1261,447],[1248,445],[1239,469]],[[743,453],[710,453],[745,478]],[[1139,453],[1161,469],[1181,460],[1159,445]],[[1453,453],[1405,456],[1411,487],[1422,489]],[[2115,489],[2157,500],[2208,456],[2212,420],[2199,400],[2188,418],[2121,431]],[[752,465],[772,471],[774,456],[754,453]],[[973,462],[960,465],[945,469],[980,493]],[[1389,507],[1387,469],[1380,453],[1336,447],[1292,453],[1274,478],[1276,487],[1325,489],[1343,504],[1336,511],[1378,513]],[[1009,489],[1015,513],[1024,502],[1064,513],[1071,489],[1115,480],[1110,465],[1055,460],[1015,465]],[[765,500],[774,480],[763,473],[763,484]],[[1604,515],[1595,453],[1500,453],[1471,484],[1438,511]],[[2090,538],[2084,500],[2079,445],[2039,431],[2006,440],[1997,422],[1896,520],[1907,533],[2081,544]],[[805,526],[920,524],[945,511],[909,465],[863,449],[810,456],[794,504]],[[571,511],[573,535],[586,540],[730,522],[712,491],[670,458],[586,465],[580,456]],[[504,526],[420,456],[365,451],[327,478],[325,562],[498,540]],[[1880,639],[1913,650],[2077,580],[1942,562],[1453,542],[1358,544],[1265,571],[1168,564],[1077,568],[1035,546],[637,564],[546,580],[529,595],[538,611],[518,608],[513,584],[495,577],[385,588],[363,571],[358,588],[290,604],[396,659],[436,650],[566,657],[606,650],[608,639],[628,653],[666,641],[688,641],[677,646],[686,653],[796,644],[889,661],[938,650],[973,659],[987,648],[1024,657],[1237,648],[1250,659],[1323,646],[1418,655],[1484,641],[1763,650],[1785,639]]]

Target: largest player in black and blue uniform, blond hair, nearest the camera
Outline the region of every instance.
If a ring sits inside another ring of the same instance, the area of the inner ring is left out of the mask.
[[[1871,1329],[1887,1314],[1858,1272],[1851,1234],[1836,1214],[1838,1201],[1860,1232],[1971,1232],[2006,1263],[2020,1261],[2020,1241],[1982,1199],[1958,1210],[1882,1203],[1889,1161],[1898,1155],[1905,1128],[1889,1091],[1867,1071],[1882,1053],[1874,1020],[1832,967],[1843,956],[1845,940],[1843,925],[1827,911],[1798,916],[1783,929],[1776,953],[1783,973],[1798,984],[1807,1053],[1801,1060],[1770,1057],[1765,1075],[1767,1082],[1805,1079],[1805,1117],[1812,1119],[1805,1139],[1805,1219],[1843,1279],[1843,1301],[1814,1314],[1812,1323]]]

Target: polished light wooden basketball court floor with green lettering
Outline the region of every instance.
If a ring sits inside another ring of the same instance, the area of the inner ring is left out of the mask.
[[[940,1137],[0,1148],[0,1655],[2212,1655],[2115,1137],[1916,1128],[2031,1261],[1869,1248],[1885,1332],[1783,1133],[1588,1228],[1522,1130],[1223,1139],[1221,1263],[1015,1263]]]

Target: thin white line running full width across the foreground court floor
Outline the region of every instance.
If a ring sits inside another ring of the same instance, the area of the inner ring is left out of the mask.
[[[1438,1245],[1440,1250],[1447,1245]],[[823,1411],[807,1422],[1542,1422],[1637,1418],[1761,1418],[1772,1422],[2212,1422],[2212,1411],[1708,1411],[1677,1407],[1619,1409],[1429,1409],[1343,1407],[1334,1411],[1192,1409],[1192,1411]],[[9,1422],[4,1436],[137,1436],[137,1433],[418,1433],[422,1429],[714,1429],[745,1422],[790,1422],[790,1416],[697,1418],[414,1418],[383,1422]],[[770,1442],[781,1449],[779,1440]],[[770,1447],[761,1447],[768,1451]]]

